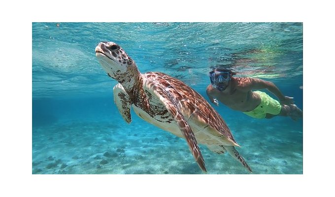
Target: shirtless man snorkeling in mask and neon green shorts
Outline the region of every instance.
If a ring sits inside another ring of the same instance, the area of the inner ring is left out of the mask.
[[[302,110],[293,104],[293,98],[284,96],[272,82],[258,78],[233,77],[235,74],[236,72],[224,68],[209,72],[211,84],[206,93],[212,103],[219,106],[220,101],[253,118],[290,116],[295,121],[302,118]],[[252,91],[254,89],[268,89],[279,101],[264,92]]]

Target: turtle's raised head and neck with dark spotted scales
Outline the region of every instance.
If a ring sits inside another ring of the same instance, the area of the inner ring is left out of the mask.
[[[132,58],[114,42],[100,42],[96,47],[96,57],[108,76],[121,83],[137,70]]]

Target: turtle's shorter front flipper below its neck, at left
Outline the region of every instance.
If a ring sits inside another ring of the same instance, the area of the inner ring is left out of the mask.
[[[121,84],[116,84],[113,88],[114,102],[122,116],[122,118],[129,124],[132,122],[130,108],[132,106],[129,95]]]

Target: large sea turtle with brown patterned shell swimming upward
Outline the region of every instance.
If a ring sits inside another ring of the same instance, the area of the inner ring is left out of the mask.
[[[140,73],[133,59],[114,42],[100,42],[95,51],[107,75],[119,82],[113,88],[114,102],[127,123],[132,121],[133,107],[146,122],[185,138],[205,172],[198,143],[218,154],[228,152],[252,172],[234,148],[239,145],[225,121],[199,93],[162,72]]]

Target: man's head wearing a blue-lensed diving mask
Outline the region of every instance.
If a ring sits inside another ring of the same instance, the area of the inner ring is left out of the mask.
[[[236,74],[230,69],[214,68],[209,72],[209,78],[212,86],[219,91],[224,91],[229,85],[232,76]]]

